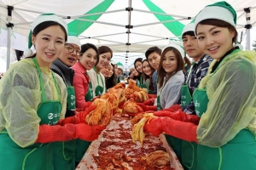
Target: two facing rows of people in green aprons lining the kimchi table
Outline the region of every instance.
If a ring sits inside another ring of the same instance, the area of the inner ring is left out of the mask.
[[[256,169],[256,54],[236,46],[236,17],[212,3],[182,43],[148,48],[129,66],[128,82],[154,94],[137,104],[156,116],[144,130],[165,133],[184,169]],[[55,14],[39,15],[28,40],[36,54],[0,81],[1,169],[73,170],[105,128],[84,122],[89,106],[124,80],[124,65],[107,46],[81,44]]]

